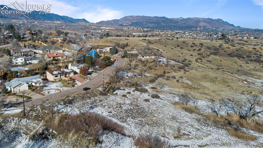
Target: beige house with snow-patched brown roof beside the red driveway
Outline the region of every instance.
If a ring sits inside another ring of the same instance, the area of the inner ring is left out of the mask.
[[[66,80],[69,76],[74,76],[74,70],[61,69],[61,70],[48,70],[46,76],[49,81]]]

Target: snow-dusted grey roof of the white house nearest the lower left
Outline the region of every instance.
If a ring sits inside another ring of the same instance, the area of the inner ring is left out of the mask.
[[[15,88],[16,86],[20,84],[27,84],[27,83],[37,83],[41,82],[42,79],[39,76],[30,76],[30,77],[23,77],[23,78],[14,78],[10,82],[6,83],[6,86]]]

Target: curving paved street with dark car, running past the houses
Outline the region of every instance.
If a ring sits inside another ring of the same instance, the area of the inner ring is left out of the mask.
[[[70,96],[70,95],[73,95],[73,94],[76,94],[79,92],[83,92],[82,89],[84,87],[95,88],[95,87],[99,86],[103,82],[103,80],[101,80],[103,73],[104,73],[105,79],[107,79],[107,78],[109,78],[109,74],[110,74],[111,70],[113,70],[116,66],[122,66],[123,65],[123,59],[122,58],[120,58],[118,56],[114,56],[114,57],[117,60],[116,65],[106,68],[104,71],[100,72],[96,77],[92,78],[91,80],[84,82],[79,86],[76,86],[76,87],[73,87],[73,88],[70,88],[70,89],[67,89],[64,91],[53,93],[53,94],[50,94],[50,95],[47,95],[47,96],[44,96],[44,97],[41,97],[38,99],[28,101],[25,103],[25,106],[32,106],[32,104],[33,105],[39,105],[43,102],[48,102],[48,101],[56,100],[59,98],[63,98],[65,96]],[[23,107],[23,103],[17,105],[17,107]]]

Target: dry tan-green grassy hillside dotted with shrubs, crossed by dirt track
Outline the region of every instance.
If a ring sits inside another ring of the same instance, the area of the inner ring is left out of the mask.
[[[166,76],[176,78],[166,78],[165,85],[183,91],[196,94],[199,99],[212,97],[233,97],[238,94],[255,94],[262,91],[262,44],[244,41],[223,41],[222,40],[195,40],[148,37],[148,38],[125,38],[109,37],[101,40],[90,41],[90,45],[110,45],[128,42],[128,48],[136,48],[144,51],[143,48],[150,48],[158,57],[171,58],[174,63],[173,70],[168,66],[159,66],[154,70],[147,69],[147,73],[156,75],[166,70]],[[230,48],[232,47],[232,48]],[[209,65],[206,67],[195,62],[201,55],[199,62]],[[259,60],[255,60],[259,59]],[[260,61],[261,60],[261,61]],[[153,63],[152,63],[153,64]],[[187,65],[185,69],[180,66]],[[221,72],[219,72],[221,71]],[[242,80],[230,75],[247,80],[252,84],[246,84]],[[181,78],[180,78],[181,77]],[[162,81],[158,79],[156,82]],[[179,82],[178,82],[179,81]]]

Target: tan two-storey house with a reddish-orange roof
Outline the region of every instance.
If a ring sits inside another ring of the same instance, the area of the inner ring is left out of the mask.
[[[65,53],[47,53],[45,58],[51,63],[72,61],[72,56],[67,56]]]

